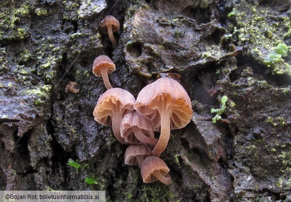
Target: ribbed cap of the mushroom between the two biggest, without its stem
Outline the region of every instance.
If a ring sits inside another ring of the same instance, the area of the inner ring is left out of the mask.
[[[125,114],[122,119],[120,126],[121,137],[123,137],[127,143],[141,144],[134,135],[134,129],[141,130],[142,134],[146,137],[154,138],[152,123],[136,111],[130,111]]]

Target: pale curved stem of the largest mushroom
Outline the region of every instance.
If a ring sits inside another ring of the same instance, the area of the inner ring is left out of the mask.
[[[166,103],[163,103],[163,104],[166,104]],[[166,149],[169,139],[170,139],[170,130],[171,130],[170,114],[163,107],[161,111],[161,135],[156,147],[152,151],[153,156],[159,157],[161,153],[164,152],[164,150]]]

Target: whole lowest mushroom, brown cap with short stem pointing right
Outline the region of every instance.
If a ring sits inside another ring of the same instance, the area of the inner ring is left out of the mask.
[[[169,174],[170,169],[159,157],[150,156],[145,158],[140,170],[144,183],[155,182],[157,180],[160,180],[166,185],[172,183],[172,179]]]

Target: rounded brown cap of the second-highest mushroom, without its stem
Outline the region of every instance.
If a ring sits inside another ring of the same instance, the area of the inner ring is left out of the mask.
[[[115,71],[115,64],[108,56],[99,55],[95,58],[92,65],[93,73],[95,76],[102,77],[100,71],[101,68],[106,68],[107,73],[111,74],[113,71]]]

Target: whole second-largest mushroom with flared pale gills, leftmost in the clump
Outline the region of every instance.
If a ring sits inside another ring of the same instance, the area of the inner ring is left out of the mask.
[[[112,125],[114,136],[122,144],[128,144],[120,135],[120,124],[123,116],[133,111],[134,97],[126,90],[112,88],[103,93],[96,104],[93,115],[95,120],[104,125]]]

